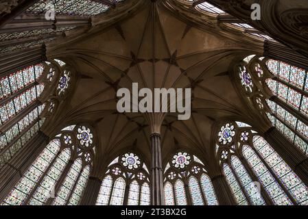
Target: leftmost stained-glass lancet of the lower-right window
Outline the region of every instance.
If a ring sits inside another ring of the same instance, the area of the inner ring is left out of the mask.
[[[248,205],[246,196],[241,191],[241,187],[228,164],[224,164],[223,170],[224,175],[226,176],[226,180],[228,181],[228,185],[230,186],[233,195],[235,196],[235,201],[237,201],[237,205]]]

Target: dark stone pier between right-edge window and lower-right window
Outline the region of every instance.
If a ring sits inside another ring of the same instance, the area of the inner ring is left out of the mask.
[[[265,140],[282,159],[296,172],[296,175],[308,186],[308,157],[289,141],[276,128],[272,127],[264,133]]]

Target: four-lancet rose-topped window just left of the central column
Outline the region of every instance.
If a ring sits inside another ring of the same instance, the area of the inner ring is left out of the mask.
[[[139,155],[123,153],[108,165],[96,205],[150,205],[149,171]]]

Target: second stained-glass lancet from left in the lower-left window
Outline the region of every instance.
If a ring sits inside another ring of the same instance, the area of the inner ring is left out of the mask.
[[[47,175],[40,182],[40,185],[34,192],[32,198],[29,201],[29,205],[43,205],[47,198],[51,198],[54,193],[55,185],[60,179],[60,175],[63,172],[65,166],[69,162],[71,157],[70,149],[64,149],[57,157],[54,164],[48,170]]]

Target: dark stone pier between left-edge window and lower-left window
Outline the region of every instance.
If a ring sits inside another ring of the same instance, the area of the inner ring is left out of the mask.
[[[0,202],[14,188],[16,183],[21,179],[24,172],[34,162],[36,157],[40,155],[49,138],[41,131],[29,140],[25,146],[19,151],[10,163],[5,164],[0,171]]]

